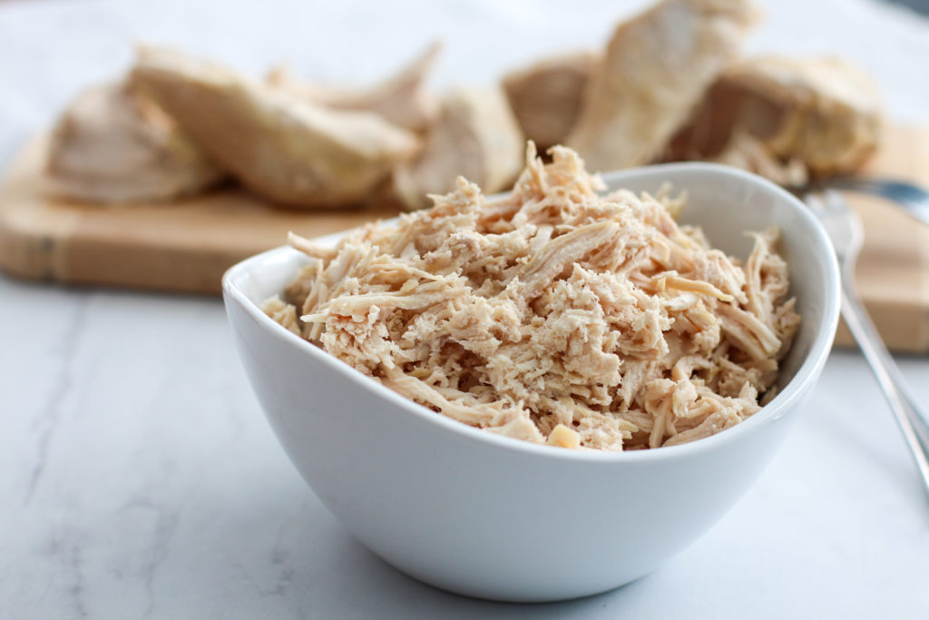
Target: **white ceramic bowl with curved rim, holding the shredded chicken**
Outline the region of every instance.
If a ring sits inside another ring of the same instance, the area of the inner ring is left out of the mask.
[[[743,231],[782,231],[803,324],[779,395],[755,416],[698,442],[620,454],[498,437],[405,400],[268,319],[259,304],[294,277],[299,253],[278,248],[226,273],[242,361],[287,454],[351,534],[417,579],[465,595],[538,601],[647,574],[745,493],[826,362],[838,269],[824,231],[791,194],[720,165],[604,178],[610,188],[655,191],[670,181],[687,190],[682,219],[735,256],[751,249]]]

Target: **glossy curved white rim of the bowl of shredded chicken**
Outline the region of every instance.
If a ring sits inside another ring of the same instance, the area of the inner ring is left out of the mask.
[[[823,291],[823,311],[818,325],[816,337],[810,345],[809,352],[803,363],[797,369],[790,382],[781,389],[779,393],[763,406],[753,416],[739,422],[739,424],[718,432],[710,437],[704,437],[694,442],[681,443],[672,446],[664,446],[649,450],[629,450],[622,452],[606,452],[601,450],[566,450],[540,443],[526,442],[524,440],[505,437],[495,433],[487,432],[483,429],[477,429],[443,416],[427,407],[400,396],[397,392],[387,388],[372,377],[364,375],[360,371],[342,362],[338,358],[330,355],[319,347],[316,347],[304,338],[297,336],[290,330],[281,326],[268,317],[259,305],[245,295],[238,282],[243,276],[259,271],[269,261],[278,261],[282,257],[288,257],[290,260],[294,255],[299,254],[297,250],[282,245],[262,252],[252,257],[248,257],[236,263],[229,268],[222,279],[223,297],[226,305],[230,303],[237,304],[255,323],[261,327],[269,336],[284,342],[284,344],[295,347],[307,354],[309,358],[316,362],[326,365],[333,372],[344,376],[347,380],[358,384],[360,389],[367,389],[379,398],[385,399],[392,403],[401,411],[405,411],[412,416],[417,416],[428,423],[435,424],[441,429],[446,429],[452,433],[464,436],[467,439],[481,442],[487,446],[514,451],[519,454],[529,456],[542,456],[546,458],[555,458],[566,461],[580,461],[586,463],[641,463],[651,462],[654,460],[673,460],[675,458],[687,458],[689,456],[700,455],[706,452],[712,452],[717,447],[722,447],[731,442],[739,442],[739,438],[757,429],[769,426],[771,423],[786,414],[792,407],[804,396],[808,389],[812,388],[818,378],[818,374],[825,365],[826,359],[832,346],[835,331],[839,322],[839,307],[841,297],[841,281],[839,275],[839,266],[832,250],[832,244],[819,223],[818,219],[796,196],[789,191],[784,190],[775,183],[754,175],[752,173],[734,168],[728,165],[708,164],[701,162],[685,162],[674,164],[658,164],[629,168],[615,172],[609,172],[601,175],[607,181],[622,181],[627,178],[639,176],[650,176],[654,173],[661,172],[664,175],[674,175],[680,172],[700,172],[720,178],[737,179],[740,183],[747,183],[759,189],[774,194],[783,204],[783,208],[791,209],[795,215],[798,215],[803,222],[803,226],[811,231],[816,238],[818,245],[825,248],[826,255],[822,257],[821,264],[824,267],[826,277],[826,290]],[[386,220],[390,221],[390,220]],[[334,241],[349,231],[335,232],[333,234],[316,237],[315,240],[320,242]],[[233,329],[235,326],[233,325]]]

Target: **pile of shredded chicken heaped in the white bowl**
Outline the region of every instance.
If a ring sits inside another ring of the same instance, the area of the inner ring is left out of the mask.
[[[457,190],[311,259],[269,316],[464,424],[619,451],[691,442],[770,398],[800,323],[777,231],[742,264],[678,225],[683,199],[607,195],[530,144],[511,194]]]

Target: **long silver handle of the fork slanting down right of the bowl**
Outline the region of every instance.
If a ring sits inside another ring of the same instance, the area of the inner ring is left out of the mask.
[[[926,423],[919,404],[909,390],[903,373],[871,322],[868,310],[865,310],[864,304],[861,303],[854,284],[851,284],[850,278],[843,280],[845,284],[842,290],[842,317],[877,378],[884,398],[894,412],[896,423],[903,432],[909,451],[922,474],[922,484],[926,493],[929,493],[929,424]]]

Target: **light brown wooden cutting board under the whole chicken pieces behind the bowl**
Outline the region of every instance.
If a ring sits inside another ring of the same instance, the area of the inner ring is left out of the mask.
[[[49,198],[47,139],[15,158],[0,186],[0,267],[30,280],[216,294],[223,271],[284,242],[342,231],[396,210],[306,213],[228,189],[174,204],[97,206]],[[929,187],[929,127],[891,127],[868,172]],[[849,195],[867,241],[858,285],[892,349],[929,351],[929,226],[893,204]],[[851,342],[844,327],[838,341]]]

